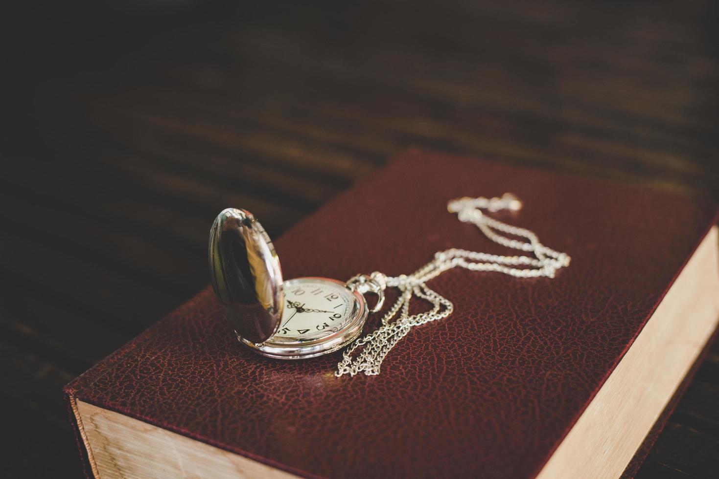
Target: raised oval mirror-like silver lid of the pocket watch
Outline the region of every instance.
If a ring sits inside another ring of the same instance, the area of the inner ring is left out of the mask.
[[[212,287],[235,332],[262,343],[282,320],[282,269],[270,237],[247,210],[227,208],[210,229]]]

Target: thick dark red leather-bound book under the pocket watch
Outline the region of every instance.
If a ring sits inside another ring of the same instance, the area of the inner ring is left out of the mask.
[[[446,211],[504,192],[524,208],[497,218],[572,256],[554,279],[448,271],[430,284],[454,313],[413,328],[379,376],[342,378],[340,353],[244,347],[205,289],[66,386],[88,474],[596,477],[641,462],[719,316],[710,202],[411,151],[275,239],[283,275],[510,254]]]

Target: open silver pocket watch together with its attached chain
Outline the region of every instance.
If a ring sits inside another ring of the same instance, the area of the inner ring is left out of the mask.
[[[533,256],[451,248],[437,251],[434,259],[412,274],[389,277],[375,271],[358,274],[347,282],[318,277],[283,282],[280,260],[260,222],[247,210],[228,208],[217,216],[210,231],[212,287],[237,338],[257,353],[300,359],[348,346],[336,376],[379,374],[385,356],[412,327],[452,314],[452,302],[426,284],[444,271],[461,267],[516,278],[551,278],[569,265],[567,254],[544,246],[532,231],[490,218],[482,211],[516,213],[521,206],[514,195],[506,193],[493,198],[458,198],[448,203],[447,210],[457,213],[460,221],[476,225],[491,241]],[[385,312],[379,327],[359,338],[367,315],[382,307],[388,287],[398,289],[398,299]],[[377,295],[372,308],[365,300],[367,293]],[[431,308],[410,314],[413,298],[429,303]]]

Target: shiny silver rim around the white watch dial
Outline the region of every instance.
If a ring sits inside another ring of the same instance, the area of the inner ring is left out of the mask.
[[[252,341],[242,338],[237,335],[237,338],[244,345],[249,346],[255,350],[255,352],[261,355],[267,356],[268,358],[277,359],[305,359],[314,358],[316,356],[333,353],[336,350],[343,348],[348,343],[351,343],[359,334],[362,332],[362,327],[367,321],[367,303],[365,297],[359,292],[353,291],[347,288],[347,284],[331,278],[323,278],[321,276],[303,276],[301,278],[288,279],[283,283],[290,286],[296,283],[302,282],[331,282],[334,284],[342,285],[347,291],[352,294],[354,304],[352,312],[350,313],[351,318],[347,322],[347,325],[339,331],[330,332],[328,335],[321,338],[313,338],[308,340],[285,340],[278,339],[274,340],[275,335],[265,340],[264,343],[252,343]]]

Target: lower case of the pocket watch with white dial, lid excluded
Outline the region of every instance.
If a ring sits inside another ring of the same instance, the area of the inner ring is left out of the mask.
[[[328,278],[297,278],[283,283],[284,306],[277,332],[264,343],[239,338],[270,358],[312,358],[352,342],[367,320],[358,292]]]

